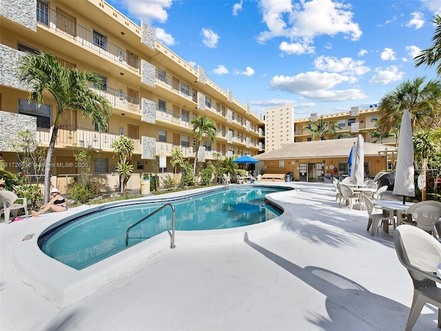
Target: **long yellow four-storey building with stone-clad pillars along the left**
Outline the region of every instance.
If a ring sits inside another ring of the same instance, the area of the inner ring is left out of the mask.
[[[39,50],[52,52],[68,68],[99,74],[104,88],[91,88],[113,108],[107,132],[77,112],[63,113],[53,174],[79,173],[61,165],[74,164],[72,146],[83,143],[99,152],[92,173],[110,183],[118,161],[110,146],[120,135],[134,140],[132,163],[138,174],[152,172],[160,155],[167,157],[165,173],[172,173],[174,148],[190,161],[196,152],[204,161],[215,152],[254,156],[263,150],[260,115],[235,99],[232,90],[208,79],[201,66],[194,68],[163,46],[147,23],[137,26],[105,1],[10,0],[3,1],[0,16],[0,154],[8,170],[17,171],[10,144],[14,135],[28,128],[41,146],[48,146],[57,114],[50,94],[38,108],[16,78],[17,59]],[[216,123],[218,136],[215,143],[204,140],[196,151],[189,121],[204,115]]]

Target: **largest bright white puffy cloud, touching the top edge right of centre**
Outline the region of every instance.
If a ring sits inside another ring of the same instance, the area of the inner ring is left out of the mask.
[[[263,21],[268,30],[259,34],[258,42],[264,43],[274,37],[289,37],[311,43],[320,35],[334,36],[339,33],[358,40],[362,31],[358,23],[353,23],[350,8],[350,5],[331,0],[300,1],[295,6],[291,0],[260,0]]]

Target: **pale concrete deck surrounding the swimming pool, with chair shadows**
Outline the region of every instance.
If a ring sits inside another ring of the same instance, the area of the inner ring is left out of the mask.
[[[392,237],[371,237],[367,212],[340,208],[333,185],[278,185],[300,192],[274,198],[285,209],[276,230],[212,243],[176,234],[174,250],[65,308],[14,261],[23,238],[61,213],[1,223],[0,329],[404,330],[413,290]],[[437,318],[426,305],[413,331],[438,330]]]

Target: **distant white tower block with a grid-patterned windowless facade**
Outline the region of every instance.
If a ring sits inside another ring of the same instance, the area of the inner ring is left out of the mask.
[[[278,150],[286,143],[294,143],[294,106],[285,105],[265,109],[265,151]]]

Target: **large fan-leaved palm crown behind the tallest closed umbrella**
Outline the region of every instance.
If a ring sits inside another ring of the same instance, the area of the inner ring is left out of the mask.
[[[408,109],[411,114],[412,129],[438,128],[441,120],[441,81],[426,77],[416,77],[404,81],[395,90],[387,92],[380,101],[378,120],[384,134],[401,123],[402,113]]]

